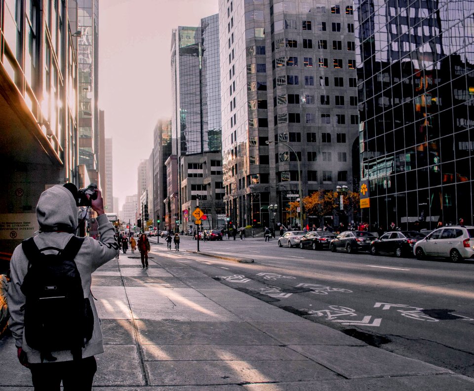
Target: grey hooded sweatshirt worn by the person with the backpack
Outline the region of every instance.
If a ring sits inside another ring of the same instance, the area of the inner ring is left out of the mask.
[[[71,227],[78,225],[78,207],[72,193],[56,185],[44,191],[36,208],[40,227]],[[99,224],[100,241],[90,236],[84,238],[79,253],[74,259],[79,270],[84,298],[88,297],[94,313],[94,331],[92,338],[82,349],[82,357],[89,357],[104,352],[102,344],[102,331],[100,329],[99,317],[95,308],[94,299],[90,291],[91,274],[106,262],[114,259],[118,253],[118,244],[115,239],[115,229],[105,214],[97,217]],[[62,250],[73,234],[66,232],[40,232],[35,236],[35,243],[44,254],[57,254]],[[51,249],[54,247],[55,249]],[[57,249],[57,250],[56,250]],[[28,356],[28,362],[39,363],[40,352],[30,348],[23,333],[24,311],[21,307],[25,304],[25,296],[20,290],[23,278],[28,269],[28,259],[26,258],[21,245],[13,251],[10,261],[11,281],[8,288],[8,310],[10,312],[9,326],[15,338],[15,345],[23,348]],[[57,361],[69,361],[73,359],[70,351],[52,352]]]

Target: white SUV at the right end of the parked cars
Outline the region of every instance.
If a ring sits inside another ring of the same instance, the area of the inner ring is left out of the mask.
[[[474,257],[474,227],[447,226],[438,228],[415,243],[413,253],[418,259],[444,257],[452,262]]]

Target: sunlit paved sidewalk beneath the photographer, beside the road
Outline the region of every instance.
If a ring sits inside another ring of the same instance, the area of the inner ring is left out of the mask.
[[[105,353],[94,390],[474,390],[474,380],[365,345],[161,256],[120,254],[93,274]],[[132,257],[132,258],[130,258]],[[33,390],[13,339],[0,391]]]

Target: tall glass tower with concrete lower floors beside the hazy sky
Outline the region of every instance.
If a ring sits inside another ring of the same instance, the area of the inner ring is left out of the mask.
[[[212,228],[219,225],[219,216],[222,226],[225,209],[217,14],[202,18],[198,27],[181,26],[173,30],[171,76],[172,153],[177,156],[179,175],[175,224],[186,232],[192,229],[194,218],[190,218],[190,213],[199,199]],[[174,161],[170,160],[170,164]],[[171,199],[173,194],[168,190],[167,196]]]

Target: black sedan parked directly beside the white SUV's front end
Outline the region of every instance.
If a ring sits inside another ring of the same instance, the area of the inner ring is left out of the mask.
[[[395,257],[412,255],[415,243],[425,236],[417,231],[388,232],[370,243],[370,253],[390,253]]]

